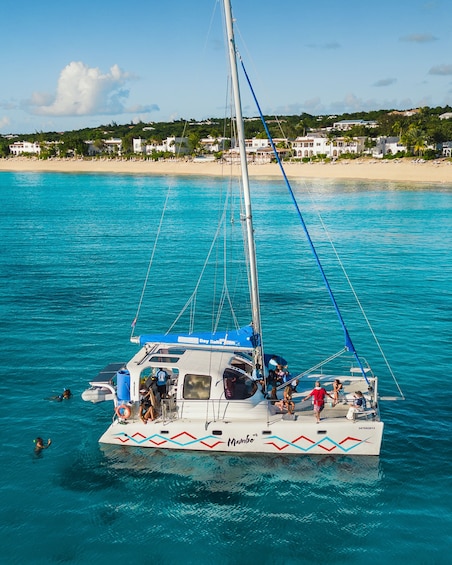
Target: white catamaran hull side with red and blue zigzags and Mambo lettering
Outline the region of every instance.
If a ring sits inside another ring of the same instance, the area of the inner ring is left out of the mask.
[[[286,418],[287,416],[284,416]],[[383,422],[325,420],[299,423],[280,418],[262,422],[116,420],[100,438],[101,443],[141,448],[226,453],[284,453],[296,455],[379,455]]]

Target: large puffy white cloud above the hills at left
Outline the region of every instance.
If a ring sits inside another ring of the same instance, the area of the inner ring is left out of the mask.
[[[124,85],[131,78],[118,65],[102,73],[98,68],[73,61],[61,71],[54,97],[33,93],[26,105],[31,113],[46,116],[122,114],[128,112],[123,102],[129,91]]]

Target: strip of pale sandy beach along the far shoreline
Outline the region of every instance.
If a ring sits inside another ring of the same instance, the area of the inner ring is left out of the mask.
[[[39,160],[26,157],[0,159],[0,171],[36,171],[67,173],[122,173],[141,175],[201,175],[222,176],[239,174],[238,166],[216,162],[126,161],[126,160]],[[419,162],[414,159],[378,161],[358,159],[336,163],[288,163],[284,165],[291,179],[366,179],[394,182],[452,184],[452,162],[445,160]],[[250,176],[278,177],[276,164],[250,164]]]

